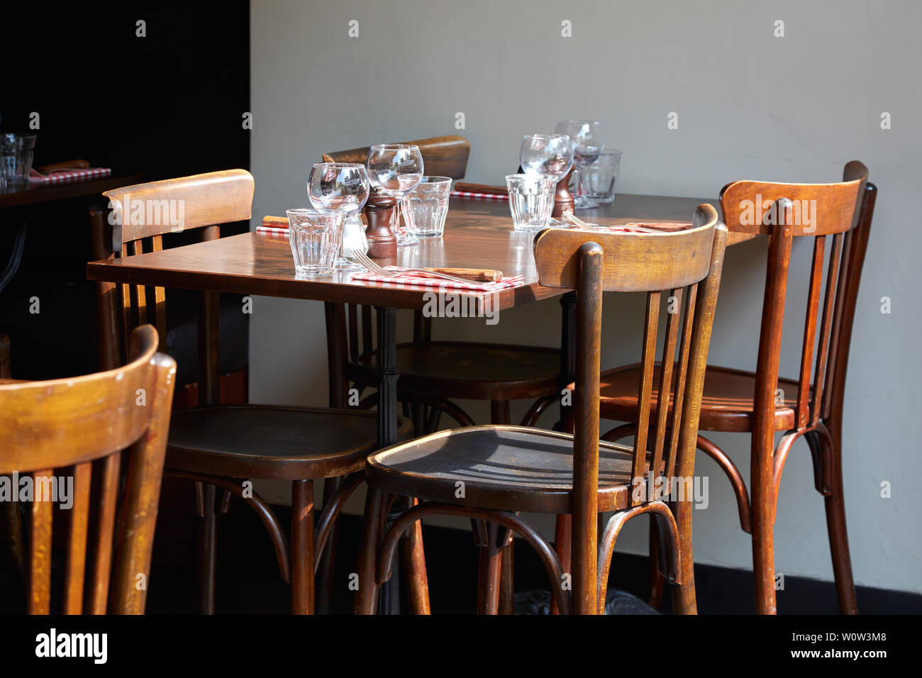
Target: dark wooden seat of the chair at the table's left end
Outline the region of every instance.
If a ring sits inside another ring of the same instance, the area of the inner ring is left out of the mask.
[[[398,435],[411,430],[399,418]],[[166,466],[232,478],[330,478],[361,470],[376,440],[374,412],[273,405],[177,410]]]

